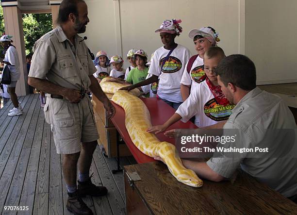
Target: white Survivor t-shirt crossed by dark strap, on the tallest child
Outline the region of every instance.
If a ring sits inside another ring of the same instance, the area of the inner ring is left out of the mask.
[[[187,48],[178,45],[170,54],[161,72],[162,61],[169,51],[164,47],[155,51],[148,73],[159,76],[158,96],[161,99],[182,102],[181,77],[191,53]]]

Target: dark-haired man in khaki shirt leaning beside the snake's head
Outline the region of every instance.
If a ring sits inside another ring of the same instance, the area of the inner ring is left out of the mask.
[[[214,182],[231,178],[241,167],[296,202],[297,126],[293,114],[281,98],[256,87],[256,68],[246,56],[235,54],[224,58],[215,72],[224,95],[236,105],[223,129],[224,136],[236,134],[236,142],[226,149],[258,147],[268,148],[270,153],[214,154],[207,162],[182,160],[183,165]],[[293,134],[292,138],[288,134]]]

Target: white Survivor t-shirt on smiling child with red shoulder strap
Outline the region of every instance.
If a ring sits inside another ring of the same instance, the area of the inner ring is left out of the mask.
[[[204,73],[203,59],[200,58],[199,56],[193,62],[190,73],[188,73],[188,70],[187,70],[188,63],[184,68],[184,71],[181,77],[181,83],[183,85],[191,85],[191,91],[190,91],[191,93],[194,90],[194,88],[197,87],[198,84],[200,83],[198,79],[201,78],[203,75],[205,75],[205,73]]]

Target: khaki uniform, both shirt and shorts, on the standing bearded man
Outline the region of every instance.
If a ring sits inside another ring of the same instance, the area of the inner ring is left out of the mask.
[[[82,37],[75,35],[72,44],[58,26],[43,35],[35,43],[33,51],[29,77],[46,79],[80,92],[91,85],[89,76],[97,69]],[[43,111],[51,125],[57,153],[77,153],[81,150],[82,142],[96,141],[99,137],[88,96],[79,103],[48,97]]]

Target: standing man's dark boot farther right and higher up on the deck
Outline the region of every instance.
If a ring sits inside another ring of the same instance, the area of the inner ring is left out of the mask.
[[[85,182],[78,181],[78,190],[79,190],[80,197],[85,197],[85,196],[100,197],[107,194],[106,187],[96,186],[91,182],[92,177],[93,177],[93,173],[90,176],[88,181],[85,181]]]

